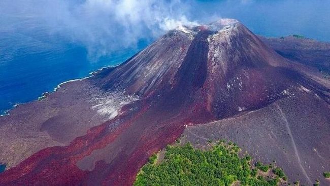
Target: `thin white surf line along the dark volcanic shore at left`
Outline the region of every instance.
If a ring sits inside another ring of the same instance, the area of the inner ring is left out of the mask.
[[[47,97],[47,95],[56,92],[59,88],[61,88],[62,85],[66,84],[66,83],[86,80],[86,79],[88,79],[88,78],[91,78],[91,77],[95,76],[98,72],[100,72],[100,71],[102,71],[102,70],[104,70],[104,69],[107,69],[107,68],[115,68],[115,67],[119,66],[120,64],[121,64],[121,63],[119,63],[119,64],[117,64],[117,65],[114,65],[114,66],[112,66],[112,65],[104,66],[104,67],[102,67],[102,68],[100,68],[100,69],[96,69],[95,71],[91,71],[91,72],[89,72],[88,74],[89,74],[90,76],[87,76],[87,77],[84,77],[84,78],[78,78],[78,79],[68,80],[68,81],[62,82],[62,83],[58,84],[58,85],[57,85],[52,91],[46,91],[46,92],[43,92],[43,93],[41,94],[41,96],[39,96],[37,99],[33,99],[33,100],[30,100],[30,101],[27,101],[27,102],[23,102],[23,103],[18,102],[18,103],[13,104],[12,108],[5,110],[4,113],[0,113],[0,114],[1,114],[0,117],[9,116],[9,115],[10,115],[10,111],[13,110],[13,109],[15,109],[18,105],[22,105],[22,104],[30,103],[30,102],[33,102],[33,101],[41,101],[41,100],[43,100],[45,97]]]

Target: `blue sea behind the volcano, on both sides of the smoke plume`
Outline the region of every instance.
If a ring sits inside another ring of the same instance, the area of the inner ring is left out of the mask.
[[[261,35],[301,34],[330,41],[330,1],[192,2],[195,10],[190,17],[197,22],[208,22],[210,16],[215,15],[216,19],[238,19]],[[16,2],[12,4],[16,5]],[[7,15],[2,6],[0,3],[0,115],[16,103],[36,100],[61,82],[83,78],[96,69],[117,65],[150,43],[142,41],[134,48],[112,51],[95,59],[88,55],[86,45],[67,38],[68,35],[49,33],[54,28],[34,22],[34,18],[25,15],[25,9],[18,17],[17,7],[14,6],[13,14]]]

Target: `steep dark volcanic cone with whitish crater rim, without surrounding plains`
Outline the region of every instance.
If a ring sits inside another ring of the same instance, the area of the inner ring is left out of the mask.
[[[280,69],[286,66],[284,58],[244,25],[222,19],[170,31],[108,73],[99,85],[105,91],[116,89],[142,97],[169,91],[173,96],[167,102],[174,97],[175,103],[194,100],[189,104],[223,118],[280,97],[295,76]]]

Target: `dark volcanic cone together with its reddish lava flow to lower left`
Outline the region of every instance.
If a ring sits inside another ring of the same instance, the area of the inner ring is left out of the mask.
[[[326,87],[228,19],[172,30],[121,65],[84,81],[109,95],[139,99],[69,144],[35,152],[0,174],[0,185],[131,185],[148,157],[175,141],[186,125],[265,107],[294,86],[328,99]]]

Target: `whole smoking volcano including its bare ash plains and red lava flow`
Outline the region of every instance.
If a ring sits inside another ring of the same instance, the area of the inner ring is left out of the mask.
[[[311,184],[330,169],[330,82],[264,42],[233,19],[181,26],[18,105],[0,117],[0,185],[131,185],[182,134],[227,136]]]

